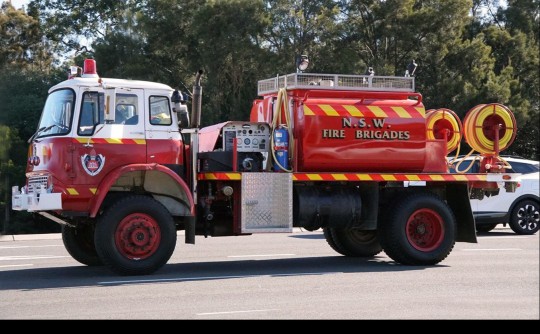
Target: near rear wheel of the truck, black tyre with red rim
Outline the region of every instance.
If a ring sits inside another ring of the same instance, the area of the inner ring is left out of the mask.
[[[379,223],[380,241],[394,261],[433,265],[444,260],[455,243],[455,218],[439,197],[431,193],[405,194],[387,208]]]

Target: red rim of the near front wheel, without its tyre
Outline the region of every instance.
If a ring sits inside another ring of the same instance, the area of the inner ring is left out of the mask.
[[[154,218],[144,213],[133,213],[118,224],[114,239],[123,256],[144,260],[158,249],[161,232]]]

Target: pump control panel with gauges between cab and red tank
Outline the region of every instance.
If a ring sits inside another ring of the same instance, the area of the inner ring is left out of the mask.
[[[238,152],[268,152],[270,126],[267,123],[229,122],[223,127],[223,150],[232,151],[234,138]]]

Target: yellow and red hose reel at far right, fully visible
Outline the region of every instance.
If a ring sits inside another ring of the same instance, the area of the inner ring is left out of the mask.
[[[498,156],[516,137],[516,119],[512,111],[498,103],[480,104],[467,112],[464,124],[465,140],[473,150]]]

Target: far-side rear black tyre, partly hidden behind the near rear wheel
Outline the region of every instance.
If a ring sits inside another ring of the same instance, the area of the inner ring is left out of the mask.
[[[326,242],[339,254],[351,257],[373,257],[382,251],[376,231],[324,228]]]

